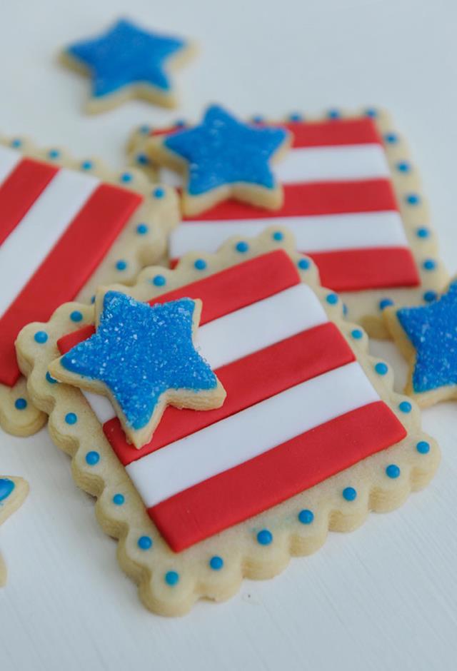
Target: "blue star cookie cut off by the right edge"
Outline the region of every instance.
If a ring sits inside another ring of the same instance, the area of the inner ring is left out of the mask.
[[[410,364],[406,393],[419,405],[457,396],[457,279],[426,306],[388,308],[386,323]]]

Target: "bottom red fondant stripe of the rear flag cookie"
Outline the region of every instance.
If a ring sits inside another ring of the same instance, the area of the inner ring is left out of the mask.
[[[323,286],[335,291],[418,286],[420,278],[411,250],[378,247],[310,252]]]

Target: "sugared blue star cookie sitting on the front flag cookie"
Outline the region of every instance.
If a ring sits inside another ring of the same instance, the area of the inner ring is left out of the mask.
[[[109,396],[126,436],[136,448],[151,440],[166,405],[219,408],[225,390],[196,351],[201,301],[149,306],[108,291],[99,326],[51,364],[51,375]]]

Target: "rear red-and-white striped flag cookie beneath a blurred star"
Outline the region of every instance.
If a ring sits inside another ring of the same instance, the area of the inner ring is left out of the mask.
[[[386,306],[429,301],[447,281],[403,136],[376,110],[351,116],[332,111],[321,119],[293,114],[281,126],[293,137],[275,168],[283,206],[267,212],[226,201],[184,217],[169,239],[171,262],[193,249],[214,252],[231,235],[287,226],[298,250],[316,262],[323,285],[341,293],[348,318],[371,335],[387,337]],[[182,130],[182,122],[174,128],[142,126],[131,138],[132,160],[154,170],[151,138]],[[179,186],[175,173],[161,168],[159,175]]]

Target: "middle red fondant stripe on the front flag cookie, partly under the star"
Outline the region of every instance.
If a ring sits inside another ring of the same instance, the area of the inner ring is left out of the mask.
[[[353,360],[348,343],[338,328],[328,322],[221,366],[216,373],[227,392],[224,405],[206,413],[167,408],[151,443],[141,450],[127,443],[117,418],[105,423],[104,433],[126,466],[164,445]]]

